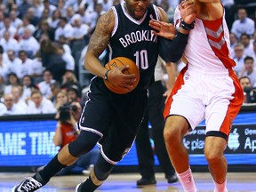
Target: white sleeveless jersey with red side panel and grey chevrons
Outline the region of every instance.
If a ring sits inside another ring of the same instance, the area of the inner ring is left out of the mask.
[[[174,25],[180,28],[180,10],[174,14]],[[236,65],[231,59],[229,32],[224,15],[218,20],[196,18],[195,28],[189,32],[188,44],[184,55],[188,69],[203,71],[222,70]]]

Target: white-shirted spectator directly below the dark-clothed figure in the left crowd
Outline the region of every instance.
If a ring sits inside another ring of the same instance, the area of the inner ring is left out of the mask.
[[[49,70],[44,70],[43,72],[44,81],[40,82],[38,85],[40,92],[42,92],[43,96],[47,99],[51,98],[51,84],[56,81],[52,78],[52,73]]]

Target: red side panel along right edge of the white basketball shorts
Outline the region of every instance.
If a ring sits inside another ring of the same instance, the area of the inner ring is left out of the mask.
[[[220,132],[224,132],[227,135],[229,135],[232,123],[236,118],[237,114],[239,113],[244,100],[244,92],[236,77],[235,72],[232,69],[229,69],[228,73],[229,73],[229,76],[233,79],[233,83],[236,91],[232,95],[234,99],[230,100],[227,115],[225,116],[223,123],[220,126]]]

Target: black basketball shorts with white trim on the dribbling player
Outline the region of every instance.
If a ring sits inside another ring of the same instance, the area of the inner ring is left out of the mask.
[[[147,107],[147,90],[110,92],[99,77],[92,79],[80,128],[100,135],[101,153],[114,164],[129,151]]]

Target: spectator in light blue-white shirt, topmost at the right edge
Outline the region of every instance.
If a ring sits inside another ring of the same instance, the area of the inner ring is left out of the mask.
[[[243,33],[252,36],[255,30],[254,20],[247,17],[245,8],[238,8],[237,10],[238,19],[233,22],[231,32],[236,35],[237,39],[240,39]]]

